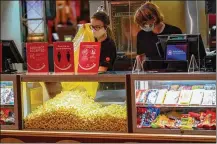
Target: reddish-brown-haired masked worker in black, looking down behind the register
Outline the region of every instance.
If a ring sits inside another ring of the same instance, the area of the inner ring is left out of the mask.
[[[141,28],[137,34],[137,54],[145,54],[149,60],[161,59],[156,47],[157,35],[182,33],[180,28],[164,23],[158,6],[151,2],[146,2],[136,11],[134,20]]]

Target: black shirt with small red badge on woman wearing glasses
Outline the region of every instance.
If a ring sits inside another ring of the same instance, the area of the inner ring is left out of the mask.
[[[116,55],[115,43],[110,37],[107,37],[101,42],[99,66],[107,67],[108,70],[112,70]]]

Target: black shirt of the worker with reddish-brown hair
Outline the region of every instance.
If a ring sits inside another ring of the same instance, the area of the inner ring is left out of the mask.
[[[157,35],[181,33],[182,31],[180,28],[169,24],[165,24],[165,28],[160,34],[141,30],[137,34],[137,54],[140,55],[145,53],[151,60],[159,60],[160,56],[156,47],[156,43],[158,42]]]

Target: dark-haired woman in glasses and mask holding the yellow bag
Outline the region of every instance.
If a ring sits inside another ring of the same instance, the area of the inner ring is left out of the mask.
[[[91,17],[91,29],[96,42],[101,42],[99,72],[112,70],[116,59],[116,46],[109,28],[109,16],[102,11]]]

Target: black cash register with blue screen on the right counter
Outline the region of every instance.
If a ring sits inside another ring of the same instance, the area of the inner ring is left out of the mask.
[[[167,72],[187,72],[192,56],[202,67],[206,57],[200,34],[158,35],[156,47]]]

